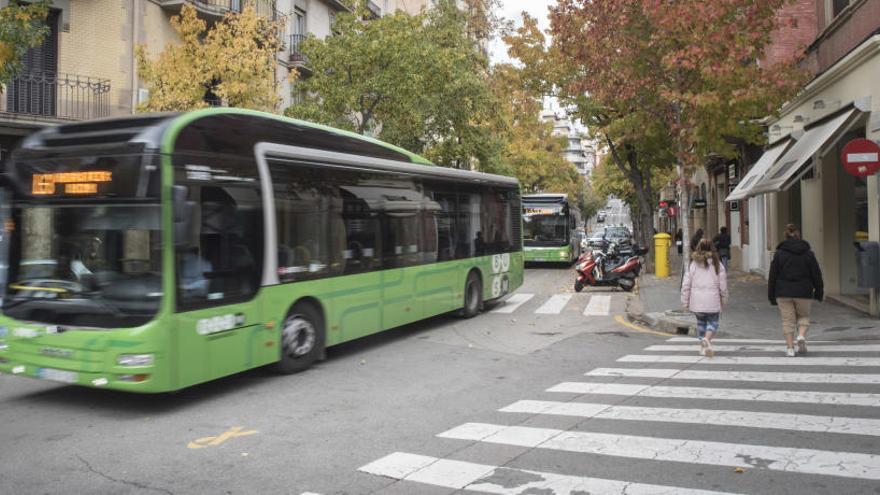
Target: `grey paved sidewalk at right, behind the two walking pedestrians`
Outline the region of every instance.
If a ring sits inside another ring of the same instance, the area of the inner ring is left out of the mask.
[[[696,334],[696,319],[681,309],[677,257],[669,277],[644,274],[627,301],[630,320],[669,333]],[[721,315],[719,337],[782,339],[779,310],[767,300],[767,282],[760,276],[733,271],[728,276],[730,301]],[[813,301],[808,337],[813,340],[880,339],[880,320],[837,303]]]

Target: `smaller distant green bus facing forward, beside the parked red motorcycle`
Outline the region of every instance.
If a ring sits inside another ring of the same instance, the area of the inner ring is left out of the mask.
[[[523,245],[528,263],[572,263],[581,254],[583,220],[566,194],[522,197]]]

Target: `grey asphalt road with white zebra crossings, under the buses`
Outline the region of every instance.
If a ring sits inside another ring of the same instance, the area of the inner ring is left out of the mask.
[[[730,343],[696,362],[616,320],[623,293],[571,282],[529,269],[474,319],[293,376],[160,396],[0,376],[0,493],[880,493],[880,354]]]

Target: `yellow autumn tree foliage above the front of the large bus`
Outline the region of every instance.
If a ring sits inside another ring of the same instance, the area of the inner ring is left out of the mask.
[[[136,50],[138,74],[150,99],[138,110],[192,110],[208,105],[211,93],[233,107],[274,111],[276,54],[280,26],[257,15],[248,2],[241,13],[229,13],[210,29],[185,4],[171,24],[180,36],[155,60],[143,46]]]

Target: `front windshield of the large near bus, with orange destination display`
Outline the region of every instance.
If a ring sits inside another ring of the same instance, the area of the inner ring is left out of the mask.
[[[143,154],[13,161],[3,313],[96,328],[150,321],[162,299],[159,171]]]

